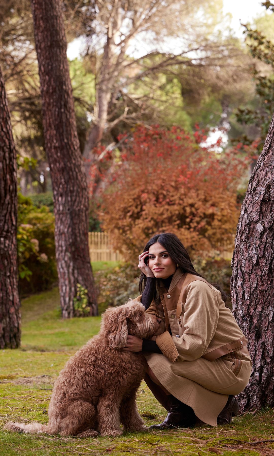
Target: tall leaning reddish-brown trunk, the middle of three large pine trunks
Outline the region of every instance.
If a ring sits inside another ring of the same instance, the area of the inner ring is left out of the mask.
[[[55,215],[55,247],[63,317],[74,315],[79,283],[97,315],[88,246],[88,187],[76,130],[60,0],[32,0],[34,36],[42,95],[45,149]]]

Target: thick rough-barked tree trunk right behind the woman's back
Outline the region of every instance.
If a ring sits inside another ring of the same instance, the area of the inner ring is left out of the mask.
[[[274,116],[248,184],[232,258],[234,316],[253,362],[242,410],[274,406]]]

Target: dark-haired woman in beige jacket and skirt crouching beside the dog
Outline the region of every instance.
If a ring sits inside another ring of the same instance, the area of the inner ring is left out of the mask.
[[[226,295],[195,271],[172,233],[148,241],[139,268],[137,299],[162,319],[163,332],[151,341],[129,335],[125,350],[144,352],[145,380],[169,412],[151,428],[231,423],[239,410],[234,394],[248,384],[251,359]]]

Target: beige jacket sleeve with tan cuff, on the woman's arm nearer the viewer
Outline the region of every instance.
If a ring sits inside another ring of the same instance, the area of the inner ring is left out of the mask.
[[[172,363],[176,359],[193,361],[200,358],[210,344],[216,332],[218,317],[219,308],[214,299],[214,290],[200,280],[191,282],[184,305],[183,335],[172,337],[167,331],[156,337],[156,343]],[[176,358],[174,347],[178,353]],[[172,355],[168,356],[169,352]]]

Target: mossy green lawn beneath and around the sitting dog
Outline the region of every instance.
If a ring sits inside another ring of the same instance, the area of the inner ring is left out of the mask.
[[[116,265],[116,264],[115,264]],[[119,438],[78,439],[3,431],[8,420],[47,422],[54,379],[67,359],[96,334],[100,317],[63,321],[58,290],[22,301],[19,350],[0,351],[0,455],[274,455],[274,410],[234,418],[232,425],[212,428],[126,433]],[[145,383],[138,409],[146,424],[160,422],[165,410]],[[266,442],[256,443],[259,440]]]

